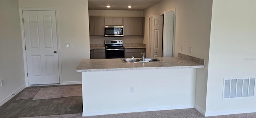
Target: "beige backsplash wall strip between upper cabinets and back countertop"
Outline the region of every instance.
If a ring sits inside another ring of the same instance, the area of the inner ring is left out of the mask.
[[[143,36],[104,37],[90,36],[90,44],[104,44],[104,40],[123,40],[123,43],[142,43]]]

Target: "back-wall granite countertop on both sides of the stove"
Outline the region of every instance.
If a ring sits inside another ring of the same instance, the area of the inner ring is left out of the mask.
[[[124,43],[124,48],[146,48],[146,44],[142,43]],[[90,50],[91,49],[105,49],[104,44],[90,44]]]

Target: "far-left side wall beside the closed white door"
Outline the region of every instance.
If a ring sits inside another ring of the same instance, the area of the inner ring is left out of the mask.
[[[0,0],[0,106],[26,87],[17,0]],[[18,91],[17,91],[18,90]]]

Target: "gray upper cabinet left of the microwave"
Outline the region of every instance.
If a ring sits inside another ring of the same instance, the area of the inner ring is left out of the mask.
[[[90,35],[104,35],[104,17],[89,17]]]

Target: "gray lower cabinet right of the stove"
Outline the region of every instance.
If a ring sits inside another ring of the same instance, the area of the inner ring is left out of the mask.
[[[125,58],[131,58],[132,56],[135,58],[141,58],[141,53],[146,53],[146,48],[129,48],[125,49]],[[146,56],[146,55],[145,55]]]

